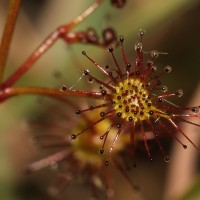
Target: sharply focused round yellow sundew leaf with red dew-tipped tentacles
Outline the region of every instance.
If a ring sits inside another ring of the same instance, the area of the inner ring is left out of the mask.
[[[125,55],[123,36],[119,37],[119,43],[121,45],[124,64],[119,64],[112,46],[108,47],[108,51],[111,54],[114,64],[113,66],[106,65],[105,68],[89,57],[85,51],[82,52],[82,54],[105,76],[105,79],[101,80],[93,76],[88,69],[83,71],[83,75],[88,78],[89,82],[95,82],[100,86],[100,91],[72,90],[67,89],[65,86],[62,88],[63,93],[66,94],[71,93],[76,96],[87,96],[102,101],[102,103],[95,106],[89,106],[83,110],[76,111],[77,115],[85,115],[86,113],[89,114],[92,112],[99,113],[99,117],[94,119],[90,126],[85,127],[80,132],[74,132],[71,135],[72,140],[77,139],[79,136],[82,137],[81,135],[86,134],[85,131],[107,119],[112,121],[112,124],[108,127],[109,130],[112,130],[113,127],[118,128],[109,148],[105,162],[106,165],[108,165],[109,157],[115,146],[117,147],[117,143],[120,142],[120,137],[122,137],[123,134],[129,135],[130,146],[134,151],[135,133],[138,130],[143,138],[144,146],[150,160],[152,160],[152,156],[147,141],[148,136],[145,134],[146,131],[153,132],[155,140],[166,162],[168,162],[170,158],[166,155],[159,139],[163,132],[173,137],[184,149],[186,149],[187,145],[176,136],[176,132],[179,132],[196,148],[197,151],[200,152],[195,143],[190,140],[187,133],[183,132],[178,126],[178,122],[181,121],[200,127],[199,124],[188,120],[188,118],[200,117],[200,114],[198,114],[199,105],[195,107],[179,107],[169,101],[171,97],[181,97],[183,91],[177,90],[174,93],[169,93],[168,88],[162,85],[160,79],[166,74],[169,74],[172,68],[170,66],[165,66],[164,69],[157,70],[157,66],[154,62],[159,55],[166,54],[163,52],[154,50],[150,53],[146,53],[151,55],[151,59],[145,61],[145,52],[142,47],[143,35],[144,31],[141,30],[140,41],[135,44],[136,58],[134,63],[130,63]],[[100,108],[103,108],[103,111],[98,111]],[[181,114],[182,111],[187,111],[187,114]],[[109,132],[104,133],[102,131],[101,153],[104,152],[108,135]]]

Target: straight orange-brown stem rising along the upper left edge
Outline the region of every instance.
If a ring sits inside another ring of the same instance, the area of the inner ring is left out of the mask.
[[[10,0],[8,16],[0,45],[0,83],[2,83],[3,73],[8,57],[9,47],[14,32],[17,16],[20,10],[21,0]]]

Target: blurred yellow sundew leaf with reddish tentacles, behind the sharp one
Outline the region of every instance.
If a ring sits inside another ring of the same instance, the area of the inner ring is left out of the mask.
[[[83,115],[77,126],[76,115],[71,115],[77,105],[69,100],[66,100],[65,103],[70,106],[66,108],[65,104],[63,109],[63,105],[45,102],[44,112],[37,117],[36,121],[30,122],[31,134],[34,135],[33,141],[42,149],[43,153],[47,151],[50,155],[30,164],[26,168],[26,172],[33,173],[45,167],[56,167],[58,176],[48,189],[48,192],[56,198],[61,198],[63,191],[67,192],[67,187],[71,183],[77,184],[77,180],[82,180],[83,183],[89,184],[92,197],[102,197],[103,199],[106,197],[111,200],[114,196],[112,171],[111,168],[105,167],[105,157],[98,152],[101,148],[102,131],[109,132],[107,142],[111,143],[117,127],[114,127],[107,119],[86,130],[87,133],[82,138],[78,138],[76,142],[70,141],[70,133],[80,131],[85,126],[92,124],[97,113]],[[107,128],[111,126],[112,130]],[[127,135],[124,135],[113,150],[112,162],[133,189],[136,189],[121,163],[123,158],[120,153],[126,149],[128,143],[129,139]]]

